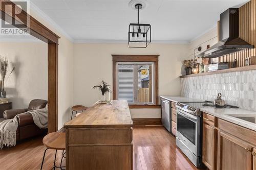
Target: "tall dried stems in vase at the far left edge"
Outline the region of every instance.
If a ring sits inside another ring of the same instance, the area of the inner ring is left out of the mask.
[[[7,73],[7,67],[8,67],[8,59],[6,57],[0,56],[0,74],[1,74],[1,78],[2,78],[2,89],[1,89],[0,98],[6,98],[5,77],[6,77],[6,73]],[[12,71],[13,70],[14,70],[14,67],[13,67]],[[12,71],[10,72],[9,76],[12,74]]]

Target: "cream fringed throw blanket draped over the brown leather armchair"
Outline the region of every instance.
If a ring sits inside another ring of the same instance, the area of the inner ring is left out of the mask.
[[[16,145],[16,130],[18,128],[18,115],[32,114],[36,126],[42,129],[48,127],[48,109],[31,110],[25,113],[17,114],[12,119],[4,120],[0,123],[0,149],[6,147],[13,147]]]

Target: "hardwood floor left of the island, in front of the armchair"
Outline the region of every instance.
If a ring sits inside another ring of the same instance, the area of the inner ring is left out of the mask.
[[[42,137],[37,137],[18,143],[14,148],[0,150],[0,169],[40,169],[45,149],[46,147],[42,144]],[[61,152],[57,152],[57,166],[60,164]],[[54,155],[53,150],[47,151],[42,169],[53,167]],[[65,165],[65,159],[62,164]]]

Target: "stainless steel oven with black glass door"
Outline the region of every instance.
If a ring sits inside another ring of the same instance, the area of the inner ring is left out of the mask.
[[[197,167],[202,166],[202,117],[198,109],[177,103],[176,144]]]

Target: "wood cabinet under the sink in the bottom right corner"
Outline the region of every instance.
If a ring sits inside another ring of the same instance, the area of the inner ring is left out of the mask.
[[[219,119],[218,170],[256,169],[255,148],[255,131]]]

